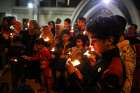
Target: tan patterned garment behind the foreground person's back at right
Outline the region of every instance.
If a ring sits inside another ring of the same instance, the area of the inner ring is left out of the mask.
[[[129,45],[128,40],[124,40],[118,44],[118,47],[123,57],[125,69],[126,69],[126,80],[123,86],[123,93],[130,93],[133,81],[133,72],[136,66],[136,54],[132,47]]]

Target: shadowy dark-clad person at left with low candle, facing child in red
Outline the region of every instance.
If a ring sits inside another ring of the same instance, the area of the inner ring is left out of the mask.
[[[8,60],[10,63],[12,89],[14,90],[21,80],[25,77],[25,64],[24,60],[20,58],[25,53],[25,46],[22,44],[19,36],[13,39],[13,43],[9,47]]]

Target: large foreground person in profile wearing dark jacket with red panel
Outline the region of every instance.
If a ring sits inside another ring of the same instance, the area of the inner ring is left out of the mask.
[[[95,65],[88,64],[88,60],[83,62],[87,64],[83,70],[75,68],[68,61],[66,67],[73,93],[121,93],[124,69],[117,48],[118,42],[114,43],[115,27],[116,24],[110,17],[99,17],[87,26],[87,31],[92,33],[92,45],[99,57]]]

